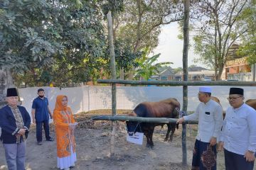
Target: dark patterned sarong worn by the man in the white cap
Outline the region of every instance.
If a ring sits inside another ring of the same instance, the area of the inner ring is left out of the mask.
[[[211,147],[208,142],[196,140],[193,149],[192,170],[216,170],[216,145]]]

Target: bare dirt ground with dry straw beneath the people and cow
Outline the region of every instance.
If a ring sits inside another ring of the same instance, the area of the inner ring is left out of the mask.
[[[103,111],[107,113],[106,111]],[[90,112],[102,114],[102,111]],[[122,111],[121,111],[122,113]],[[175,170],[190,169],[193,142],[196,136],[196,125],[188,125],[187,154],[188,166],[183,166],[181,150],[181,125],[174,133],[173,142],[164,142],[167,127],[156,127],[154,131],[154,149],[146,147],[146,138],[143,145],[134,145],[126,141],[127,132],[125,123],[117,123],[115,136],[114,159],[110,159],[110,121],[90,120],[90,115],[81,113],[75,115],[80,123],[75,132],[76,152],[78,161],[74,170]],[[50,125],[50,134],[55,137],[53,125]],[[57,170],[56,143],[43,141],[43,145],[36,145],[36,131],[32,125],[26,143],[26,170]],[[223,152],[218,153],[218,169],[225,169]],[[0,170],[6,169],[3,145],[0,145]]]

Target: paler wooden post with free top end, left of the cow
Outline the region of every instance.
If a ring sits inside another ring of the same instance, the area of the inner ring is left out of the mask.
[[[115,60],[114,60],[114,42],[113,42],[113,25],[111,11],[107,13],[107,30],[108,30],[108,40],[110,45],[110,69],[111,69],[111,79],[117,79]],[[112,115],[117,114],[117,88],[116,84],[112,84]],[[112,121],[112,132],[110,138],[110,157],[114,158],[114,136],[116,130],[116,122]]]

